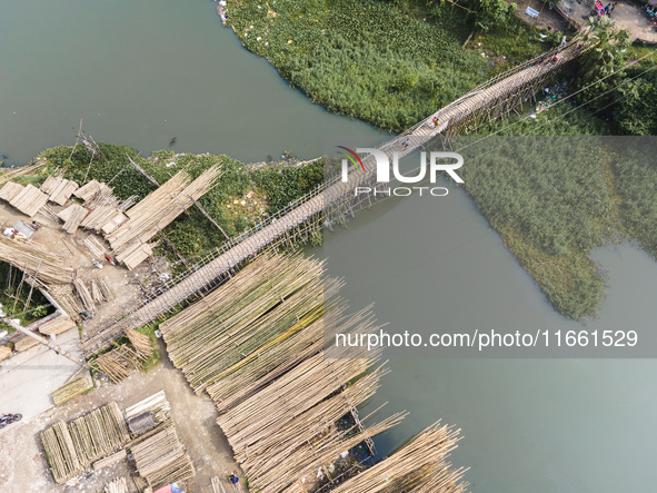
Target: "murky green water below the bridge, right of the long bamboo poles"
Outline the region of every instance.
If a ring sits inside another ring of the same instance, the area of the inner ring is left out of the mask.
[[[389,333],[424,335],[655,327],[657,263],[645,253],[627,245],[596,252],[609,273],[608,298],[599,318],[566,321],[465,193],[450,188],[436,200],[378,204],[329,235],[317,253],[329,257],[331,275],[345,277],[354,309],[375,303]],[[416,348],[386,349],[384,359],[391,372],[361,414],[386,402],[387,414],[411,414],[376,440],[381,454],[441,418],[462,430],[452,459],[471,466],[474,492],[613,493],[657,484],[655,359],[437,358]]]

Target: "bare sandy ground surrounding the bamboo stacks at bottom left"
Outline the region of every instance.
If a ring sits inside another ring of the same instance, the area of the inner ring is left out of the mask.
[[[166,357],[149,373],[138,373],[119,385],[103,385],[88,395],[77,397],[60,408],[37,417],[26,417],[0,434],[0,492],[98,493],[116,477],[135,474],[133,464],[123,461],[112,467],[93,473],[74,486],[56,485],[41,451],[39,432],[59,420],[73,420],[93,408],[116,401],[125,410],[161,390],[171,403],[172,417],[182,443],[187,446],[197,474],[188,482],[189,492],[211,493],[210,481],[219,476],[227,491],[232,491],[226,479],[236,471],[243,477],[232,459],[232,451],[216,423],[217,411],[206,395],[193,394],[182,374]],[[241,483],[241,482],[240,482]],[[241,485],[242,491],[243,485]],[[132,485],[132,491],[136,491]]]

